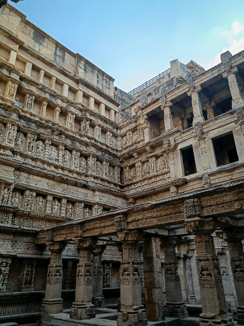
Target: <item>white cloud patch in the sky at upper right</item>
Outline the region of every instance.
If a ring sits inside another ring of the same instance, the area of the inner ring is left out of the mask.
[[[239,35],[240,32],[244,30],[244,24],[240,22],[233,22],[231,24],[231,29],[229,31],[224,30],[219,32],[219,36],[225,38],[225,43],[228,44],[227,47],[223,48],[221,52],[218,52],[210,60],[203,63],[203,67],[207,70],[213,66],[218,65],[220,61],[220,55],[223,52],[230,51],[230,53],[236,54],[244,49],[244,37]]]

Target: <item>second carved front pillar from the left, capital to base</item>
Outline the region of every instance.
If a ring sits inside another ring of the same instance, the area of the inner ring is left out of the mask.
[[[80,250],[77,264],[75,302],[70,312],[71,319],[95,318],[95,307],[92,300],[92,274],[91,252],[96,240],[92,238],[76,238],[75,244]]]

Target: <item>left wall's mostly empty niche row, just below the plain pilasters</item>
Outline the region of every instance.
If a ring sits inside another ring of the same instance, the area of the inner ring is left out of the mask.
[[[0,95],[3,94],[3,88],[0,81]],[[68,129],[67,131],[79,132],[90,138],[95,138],[103,144],[117,149],[117,140],[115,136],[106,130],[105,127],[95,125],[96,122],[90,119],[79,118],[75,113],[67,111],[64,108],[56,106],[55,108],[48,105],[47,101],[36,101],[35,96],[27,93],[26,95],[17,92],[18,84],[9,81],[6,85],[4,97],[15,102],[15,107],[19,107],[22,113],[32,115],[49,124],[60,125],[61,128]],[[1,94],[2,93],[2,94]]]

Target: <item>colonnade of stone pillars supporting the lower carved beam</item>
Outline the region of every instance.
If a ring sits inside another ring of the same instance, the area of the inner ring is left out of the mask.
[[[202,313],[200,326],[232,325],[227,313],[225,294],[218,255],[215,252],[212,233],[217,229],[214,218],[190,217],[184,221],[188,234],[195,235],[197,277],[200,288]],[[244,252],[242,233],[237,230],[223,230],[221,233],[228,244],[230,263],[237,293],[237,322],[244,323]],[[148,235],[140,230],[117,233],[122,243],[120,266],[121,310],[117,325],[147,325],[147,320],[159,321],[166,317],[188,316],[183,301],[181,278],[175,251],[177,237]],[[95,307],[104,307],[102,296],[102,252],[104,245],[96,246],[95,238],[75,238],[79,249],[77,264],[75,302],[70,318],[76,320],[95,317]],[[142,305],[141,268],[138,257],[139,243],[143,242],[143,270],[145,309]],[[61,281],[62,242],[47,243],[51,252],[47,273],[46,295],[42,304],[42,321],[48,324],[50,314],[62,312]],[[163,300],[160,246],[165,253],[164,277],[166,302]],[[93,261],[92,261],[93,255]],[[91,262],[92,261],[92,262]]]

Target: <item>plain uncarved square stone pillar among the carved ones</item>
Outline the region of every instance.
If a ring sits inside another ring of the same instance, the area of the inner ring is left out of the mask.
[[[143,270],[147,319],[150,321],[163,320],[165,317],[158,237],[152,236],[143,239]]]

